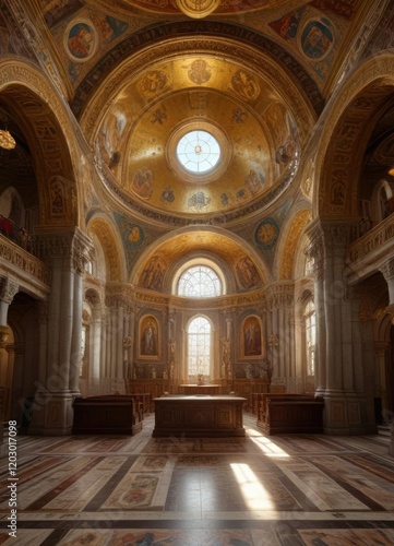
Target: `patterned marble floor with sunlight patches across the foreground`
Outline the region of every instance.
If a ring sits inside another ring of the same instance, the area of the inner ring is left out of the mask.
[[[152,438],[153,415],[133,437],[19,436],[14,476],[0,460],[0,545],[394,544],[386,438],[243,424],[244,438]]]

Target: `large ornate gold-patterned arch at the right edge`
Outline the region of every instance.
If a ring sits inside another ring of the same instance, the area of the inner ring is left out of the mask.
[[[375,115],[394,91],[392,54],[373,56],[349,76],[322,115],[310,145],[319,138],[313,193],[313,217],[359,216],[359,178],[362,157]],[[324,128],[324,129],[322,129]],[[321,133],[321,134],[320,134]]]

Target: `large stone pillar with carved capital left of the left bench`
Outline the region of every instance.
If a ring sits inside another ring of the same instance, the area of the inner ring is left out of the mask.
[[[51,266],[52,274],[46,377],[39,388],[43,434],[69,435],[73,423],[72,401],[80,394],[82,274],[89,260],[92,242],[79,229],[69,233],[62,229],[59,235],[40,230],[37,237],[41,259]]]

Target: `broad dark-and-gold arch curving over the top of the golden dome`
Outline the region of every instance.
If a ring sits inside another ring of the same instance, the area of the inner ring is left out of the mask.
[[[287,97],[287,104],[292,105],[296,122],[302,120],[302,138],[307,136],[315,115],[323,108],[318,85],[300,63],[270,38],[248,29],[246,47],[242,27],[223,22],[202,21],[195,24],[193,21],[183,21],[151,28],[148,36],[144,32],[141,36],[135,33],[121,41],[96,63],[94,74],[88,74],[86,81],[81,82],[72,100],[85,134],[94,138],[95,128],[103,116],[97,119],[97,114],[106,112],[114,99],[114,90],[123,88],[131,81],[130,74],[135,78],[158,60],[170,59],[175,55],[184,57],[198,52],[212,57],[214,52],[216,56],[225,54],[227,61],[234,60],[237,64],[241,59],[242,66],[252,67],[253,73],[259,67],[260,75],[275,81],[276,88],[280,88],[283,96]],[[264,56],[261,51],[264,51]],[[280,68],[277,66],[278,58],[283,60]],[[114,67],[109,75],[108,66]],[[94,92],[98,81],[102,85],[98,92]],[[309,88],[308,95],[305,93],[306,86]]]

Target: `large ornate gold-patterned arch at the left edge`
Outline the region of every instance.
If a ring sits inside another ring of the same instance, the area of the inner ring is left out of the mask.
[[[1,102],[32,151],[40,224],[81,227],[76,180],[83,178],[83,161],[63,99],[36,68],[14,57],[1,60],[0,82]]]

